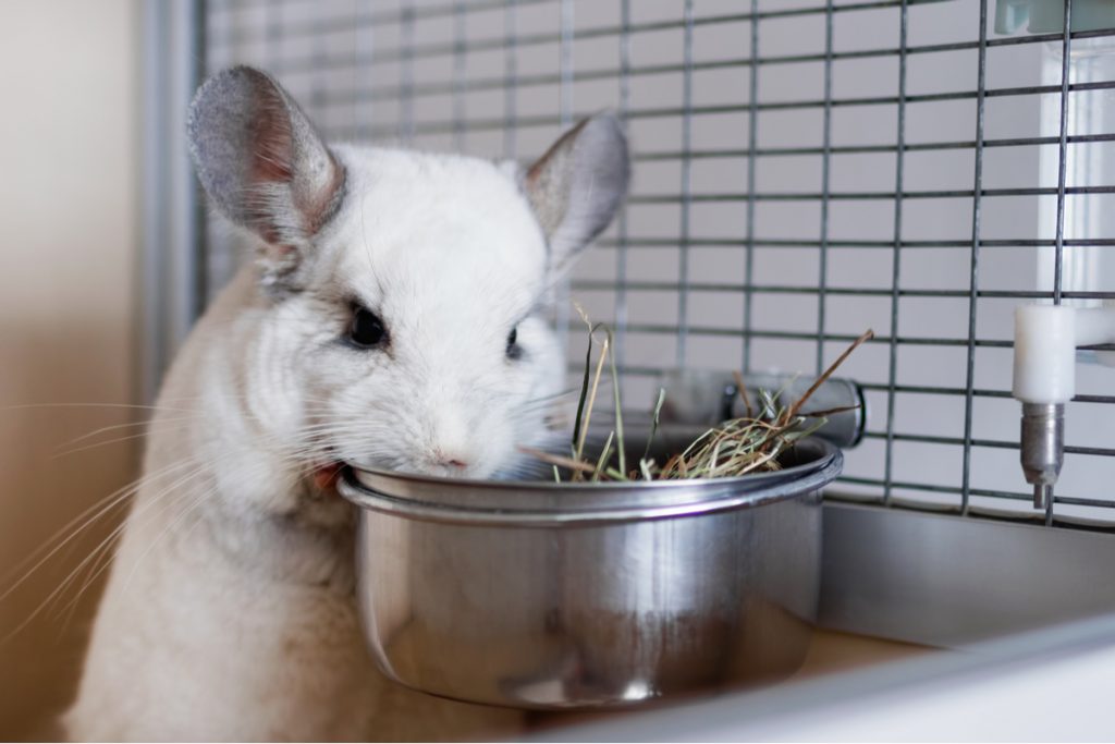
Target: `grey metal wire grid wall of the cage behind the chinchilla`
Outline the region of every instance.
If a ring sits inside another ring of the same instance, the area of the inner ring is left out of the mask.
[[[1068,29],[1072,2],[1064,8]],[[1074,148],[1090,153],[1115,143],[1113,132],[1070,132],[1072,96],[1115,88],[1115,80],[1074,83],[1072,45],[1115,36],[1115,29],[991,38],[988,0],[750,0],[740,10],[738,2],[714,0],[210,0],[209,64],[268,67],[330,136],[493,156],[536,154],[578,115],[617,108],[636,146],[637,187],[571,289],[597,317],[613,319],[629,402],[649,397],[657,377],[672,368],[820,370],[872,325],[882,331],[874,351],[849,366],[873,410],[865,445],[849,453],[843,495],[961,514],[1029,515],[1005,318],[1021,301],[1115,298],[1068,290],[1060,271],[1065,250],[1115,245],[1112,236],[1066,238],[1064,230],[1068,200],[1115,194],[1111,184],[1067,177]],[[911,38],[934,22],[949,31]],[[896,38],[879,44],[856,32],[861,23],[869,30],[885,25]],[[992,55],[1038,52],[1050,44],[1060,46],[1057,84],[989,84]],[[957,59],[970,67],[953,76],[962,85],[951,88],[927,86],[927,65],[914,69],[920,60],[948,67]],[[846,85],[850,70],[864,62],[893,68],[893,77],[884,76],[893,89],[843,93],[855,87]],[[820,73],[820,91],[787,73]],[[709,76],[716,76],[711,91],[704,83]],[[661,94],[650,95],[658,84]],[[1000,133],[1006,117],[998,116],[989,129],[988,115],[1000,102],[1024,106],[1049,96],[1059,102],[1056,133],[1037,132],[1034,117],[1020,132]],[[949,119],[968,110],[957,106],[970,107],[970,134],[941,136],[937,129],[957,131]],[[802,124],[815,113],[813,128]],[[872,117],[890,123],[893,114],[890,137],[849,137],[846,113],[875,129]],[[717,119],[724,123],[718,129],[705,124]],[[801,131],[796,141],[770,136],[780,123]],[[1055,184],[988,177],[1007,160],[998,158],[989,174],[992,154],[1032,160],[1043,147],[1057,147]],[[886,168],[878,168],[880,158],[890,158]],[[927,158],[961,163],[950,173],[967,173],[970,186],[917,185]],[[779,178],[768,165],[805,161],[816,167],[788,167],[792,178]],[[871,187],[844,185],[855,181],[849,173],[872,168],[889,171],[893,187],[880,178]],[[740,187],[726,189],[731,182]],[[1017,216],[1049,197],[1057,211],[1053,235],[988,230],[989,215],[1004,222],[1001,203]],[[956,222],[967,225],[967,235],[944,234],[919,214],[922,205],[942,203],[960,205],[963,219]],[[885,216],[876,221],[889,229],[850,232],[849,206],[853,216]],[[725,216],[725,209],[743,215],[743,223]],[[816,225],[815,235],[801,229],[807,222]],[[719,223],[724,230],[705,228]],[[1036,261],[1036,252],[1048,248],[1056,262],[1048,290],[1004,270]],[[232,251],[225,245],[213,254],[223,261],[213,272],[227,273]],[[782,265],[772,270],[772,261]],[[967,281],[919,286],[918,273],[934,261]],[[869,273],[873,286],[856,276]],[[934,312],[958,321],[953,332],[934,332]],[[904,329],[911,321],[915,327]],[[934,365],[940,374],[925,374]],[[1082,381],[1084,393],[1068,417],[1066,493],[1055,497],[1047,523],[1109,522],[1115,506],[1104,485],[1115,474],[1115,448],[1097,446],[1112,442],[1105,422],[1115,396],[1104,394],[1109,380],[1102,374],[1085,374]],[[1087,436],[1074,441],[1074,428]]]

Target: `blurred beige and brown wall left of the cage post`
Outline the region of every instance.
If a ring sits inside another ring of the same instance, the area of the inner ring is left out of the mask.
[[[19,561],[133,476],[132,443],[58,453],[132,417],[137,18],[134,0],[0,2],[0,595],[28,577],[0,599],[0,738],[72,693],[99,584],[68,618],[84,576],[33,613],[113,515]]]

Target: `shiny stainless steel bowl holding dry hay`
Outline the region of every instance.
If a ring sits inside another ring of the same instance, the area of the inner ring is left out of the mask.
[[[434,695],[522,708],[630,705],[802,663],[832,445],[785,470],[624,483],[352,471],[365,635]]]

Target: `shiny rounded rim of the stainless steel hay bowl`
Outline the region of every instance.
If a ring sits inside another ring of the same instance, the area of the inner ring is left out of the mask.
[[[795,450],[804,451],[805,462],[780,471],[683,481],[481,481],[349,466],[338,491],[361,509],[435,522],[555,526],[666,519],[794,499],[818,491],[843,468],[843,454],[824,439],[802,439]]]

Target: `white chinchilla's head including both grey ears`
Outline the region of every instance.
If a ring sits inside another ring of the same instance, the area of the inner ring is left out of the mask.
[[[308,467],[513,472],[563,379],[543,297],[627,193],[617,120],[581,122],[527,168],[330,147],[236,67],[198,90],[188,134],[213,204],[258,239],[236,352],[268,441]]]

